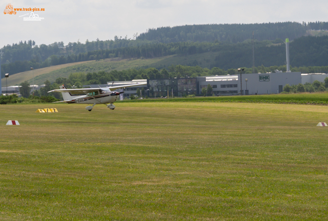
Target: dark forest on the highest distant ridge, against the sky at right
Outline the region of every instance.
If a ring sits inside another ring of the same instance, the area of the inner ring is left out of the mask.
[[[258,41],[274,40],[276,38],[290,38],[293,40],[306,33],[306,30],[328,29],[328,23],[262,23],[262,24],[211,24],[211,25],[185,25],[176,27],[161,27],[149,29],[140,34],[137,39],[171,42],[243,42],[254,38]]]

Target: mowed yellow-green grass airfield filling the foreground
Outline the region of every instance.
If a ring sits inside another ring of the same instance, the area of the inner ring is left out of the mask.
[[[327,107],[115,105],[1,105],[0,219],[327,219]]]

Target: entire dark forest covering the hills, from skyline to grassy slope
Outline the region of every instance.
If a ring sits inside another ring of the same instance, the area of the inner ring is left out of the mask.
[[[115,36],[114,40],[86,41],[85,44],[55,42],[51,45],[36,45],[34,41],[20,42],[1,49],[1,71],[18,73],[34,69],[98,60],[105,58],[154,58],[177,54],[187,56],[208,51],[217,52],[211,67],[224,69],[252,64],[252,43],[255,36],[255,65],[283,65],[284,38],[294,39],[291,43],[293,66],[325,66],[323,59],[328,53],[327,37],[301,37],[306,30],[327,30],[328,23],[265,23],[265,24],[222,24],[162,27],[149,29],[136,39]],[[194,63],[194,65],[198,65]],[[209,68],[211,68],[209,67]]]

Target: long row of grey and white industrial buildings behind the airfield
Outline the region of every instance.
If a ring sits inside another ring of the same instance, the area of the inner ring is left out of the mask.
[[[140,90],[144,88],[145,94],[143,96],[149,97],[166,97],[172,96],[172,94],[177,97],[191,94],[199,95],[202,88],[207,88],[209,84],[217,96],[238,95],[241,91],[243,95],[278,94],[282,92],[286,84],[312,84],[314,81],[323,82],[326,77],[328,74],[301,74],[301,72],[241,73],[241,77],[240,74],[236,74],[109,82],[107,87],[147,82],[145,86],[125,88],[125,98],[130,97],[131,94],[136,95],[137,88]]]

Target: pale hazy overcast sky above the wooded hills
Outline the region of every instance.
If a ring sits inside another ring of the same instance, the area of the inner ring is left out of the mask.
[[[44,11],[1,13],[0,48],[29,39],[36,45],[105,41],[115,35],[133,39],[149,28],[167,26],[328,22],[328,4],[323,0],[0,0],[0,9],[8,4]],[[32,12],[41,21],[24,21]]]

